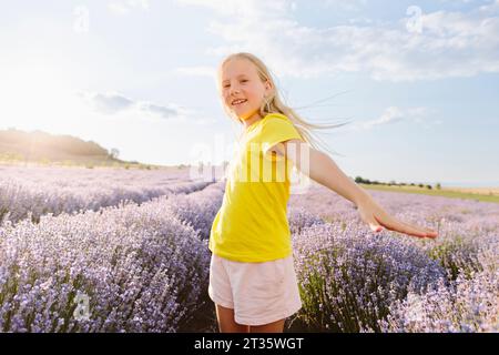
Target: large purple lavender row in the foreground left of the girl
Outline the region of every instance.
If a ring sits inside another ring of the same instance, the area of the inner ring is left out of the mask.
[[[191,196],[221,204],[213,184]],[[176,199],[176,200],[174,200]],[[207,292],[210,253],[198,229],[161,196],[99,212],[0,227],[0,331],[177,332]],[[176,203],[175,203],[176,202]],[[85,303],[86,302],[86,303]]]

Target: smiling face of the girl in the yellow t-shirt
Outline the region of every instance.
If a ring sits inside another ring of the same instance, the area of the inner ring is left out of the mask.
[[[262,82],[256,67],[246,59],[232,59],[218,74],[224,105],[241,120],[258,119],[259,108],[271,92],[271,83]],[[241,102],[241,103],[240,103]]]

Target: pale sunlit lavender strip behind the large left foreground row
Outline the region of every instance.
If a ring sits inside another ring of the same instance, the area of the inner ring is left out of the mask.
[[[166,194],[191,193],[210,183],[190,181],[185,171],[128,171],[80,168],[1,168],[0,222],[62,212],[98,211],[122,201],[142,203]]]

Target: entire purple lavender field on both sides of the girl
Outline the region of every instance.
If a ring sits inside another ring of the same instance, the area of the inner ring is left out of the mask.
[[[0,169],[1,332],[216,332],[223,182],[187,172]],[[499,204],[369,191],[435,241],[374,234],[319,185],[292,195],[303,308],[286,331],[498,332]]]

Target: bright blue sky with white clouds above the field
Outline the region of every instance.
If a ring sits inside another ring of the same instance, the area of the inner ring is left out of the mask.
[[[216,68],[252,52],[349,176],[499,186],[499,0],[0,0],[0,129],[230,160]]]

